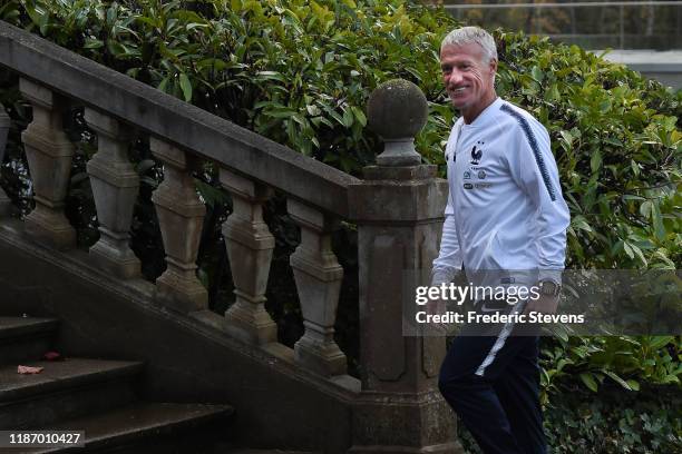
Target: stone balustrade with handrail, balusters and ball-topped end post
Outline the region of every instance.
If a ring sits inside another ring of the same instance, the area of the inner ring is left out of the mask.
[[[196,277],[196,258],[206,209],[192,175],[211,161],[233,201],[222,231],[236,302],[220,327],[246,346],[272,352],[276,325],[264,303],[274,237],[262,214],[273,190],[280,191],[301,229],[290,264],[305,330],[292,365],[357,392],[351,451],[459,452],[454,418],[436,388],[445,339],[402,334],[406,294],[399,283],[405,273],[430,267],[447,195],[435,166],[420,165],[415,151],[427,111],[416,86],[393,81],[372,96],[369,120],[387,147],[378,166],[358,179],[2,22],[0,65],[20,75],[21,92],[33,108],[22,135],[36,199],[25,223],[28,236],[59,254],[75,247],[64,215],[74,146],[61,116],[67,106],[85,106],[98,141],[87,164],[100,231],[89,250],[91,263],[121,282],[139,279],[139,260],[128,246],[139,180],[127,148],[135,135],[146,135],[164,168],[153,201],[167,269],[155,283],[155,304],[179,315],[205,312],[208,298]],[[6,121],[0,112],[0,139]],[[347,357],[334,342],[343,268],[331,235],[340,220],[354,223],[359,235],[359,389],[352,378],[339,379],[347,374]]]

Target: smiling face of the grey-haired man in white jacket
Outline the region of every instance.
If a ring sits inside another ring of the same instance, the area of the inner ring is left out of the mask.
[[[446,90],[455,108],[462,115],[478,115],[495,99],[494,75],[497,61],[486,61],[476,42],[446,46],[440,51],[440,68]]]

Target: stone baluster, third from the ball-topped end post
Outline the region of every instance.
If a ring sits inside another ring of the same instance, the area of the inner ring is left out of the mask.
[[[208,293],[196,277],[196,256],[206,207],[194,187],[192,155],[152,138],[154,156],[164,162],[164,181],[152,195],[164,238],[168,267],[156,279],[156,297],[173,309],[189,313],[208,307]]]

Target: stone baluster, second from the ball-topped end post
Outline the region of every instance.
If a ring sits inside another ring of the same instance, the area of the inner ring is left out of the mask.
[[[220,178],[232,196],[232,215],[223,224],[223,236],[236,295],[235,303],[225,313],[225,327],[249,344],[276,342],[277,326],[265,310],[275,241],[263,221],[263,204],[272,190],[224,168]]]

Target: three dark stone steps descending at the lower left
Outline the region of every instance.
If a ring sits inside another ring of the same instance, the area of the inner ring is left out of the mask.
[[[214,453],[226,443],[232,407],[139,401],[140,362],[37,361],[58,327],[50,318],[0,317],[0,431],[85,431],[86,446],[0,453]],[[19,364],[45,369],[20,375]]]

